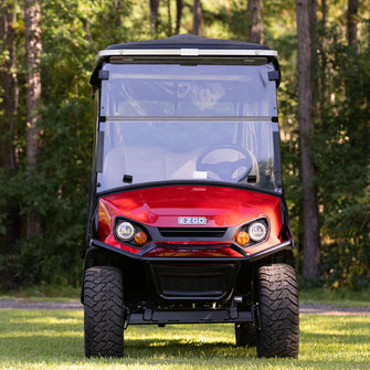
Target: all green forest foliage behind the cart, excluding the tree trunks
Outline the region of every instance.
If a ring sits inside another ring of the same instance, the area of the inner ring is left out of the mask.
[[[183,3],[180,33],[192,30],[192,6]],[[35,168],[27,167],[25,158],[22,1],[18,1],[13,24],[20,88],[18,135],[13,139],[18,166],[12,171],[0,169],[0,284],[4,288],[41,282],[80,283],[94,126],[88,85],[94,59],[108,44],[149,39],[152,31],[148,1],[144,0],[52,0],[41,4],[43,105],[38,127],[43,150]],[[370,279],[370,14],[360,1],[358,46],[348,46],[345,4],[343,0],[328,4],[326,23],[323,9],[318,9],[318,65],[313,72],[319,92],[313,142],[317,178],[313,181],[321,221],[319,284],[361,289]],[[205,36],[247,39],[246,1],[203,0],[202,6]],[[284,181],[299,269],[302,184],[294,1],[264,1],[263,19],[264,43],[278,50],[283,72],[278,99]],[[157,38],[173,33],[175,0],[160,2],[158,22]],[[1,49],[0,65],[7,57],[8,51]],[[10,220],[9,204],[15,210],[14,220]],[[42,234],[28,239],[25,220],[31,210],[40,215]],[[4,245],[12,225],[18,236]]]

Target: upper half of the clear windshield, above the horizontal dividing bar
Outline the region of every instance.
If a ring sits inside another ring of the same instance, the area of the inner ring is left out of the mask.
[[[102,116],[276,116],[272,63],[105,64]]]

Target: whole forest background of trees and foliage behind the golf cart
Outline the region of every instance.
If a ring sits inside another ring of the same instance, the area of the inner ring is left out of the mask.
[[[78,286],[108,44],[193,33],[279,53],[283,178],[304,286],[370,284],[366,0],[1,0],[0,288]]]

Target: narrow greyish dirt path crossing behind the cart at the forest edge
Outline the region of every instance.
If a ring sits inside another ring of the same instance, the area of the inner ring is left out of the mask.
[[[18,309],[83,309],[78,299],[70,302],[35,302],[31,299],[0,299],[1,308]],[[328,304],[300,304],[299,313],[304,315],[362,315],[370,316],[369,307],[334,307]]]

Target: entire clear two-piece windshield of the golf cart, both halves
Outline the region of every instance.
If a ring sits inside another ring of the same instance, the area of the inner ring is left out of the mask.
[[[272,65],[106,64],[98,191],[202,180],[274,190]],[[275,148],[276,150],[276,148]]]

